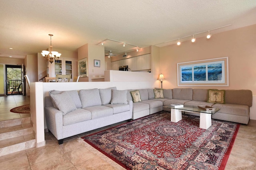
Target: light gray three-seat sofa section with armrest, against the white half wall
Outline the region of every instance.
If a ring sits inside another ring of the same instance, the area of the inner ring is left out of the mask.
[[[49,92],[44,99],[48,130],[63,139],[132,118],[132,100],[116,88]]]

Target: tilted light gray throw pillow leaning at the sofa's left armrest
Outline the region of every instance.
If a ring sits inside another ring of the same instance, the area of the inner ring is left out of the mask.
[[[50,94],[52,101],[56,107],[66,115],[70,111],[76,110],[76,105],[70,98],[68,92],[62,92],[60,94]]]

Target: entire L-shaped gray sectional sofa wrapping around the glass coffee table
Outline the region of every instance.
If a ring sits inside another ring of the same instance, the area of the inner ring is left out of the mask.
[[[157,113],[170,104],[220,108],[212,115],[213,119],[248,124],[250,118],[250,90],[225,90],[225,104],[207,102],[208,89],[163,89],[163,98],[155,98],[153,89],[138,90],[141,101],[135,103],[130,94],[134,90],[116,90],[115,87],[80,90],[79,94],[76,90],[52,90],[44,104],[47,128],[61,144],[64,138]],[[73,105],[72,109],[70,105]]]

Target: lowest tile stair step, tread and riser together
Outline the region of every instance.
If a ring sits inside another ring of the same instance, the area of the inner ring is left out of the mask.
[[[36,137],[28,134],[0,141],[0,156],[36,147]]]

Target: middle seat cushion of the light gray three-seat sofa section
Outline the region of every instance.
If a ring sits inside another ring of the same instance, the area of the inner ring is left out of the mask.
[[[86,107],[84,109],[92,113],[92,119],[113,115],[113,109],[107,106],[102,106],[102,105],[91,106],[91,107]]]

